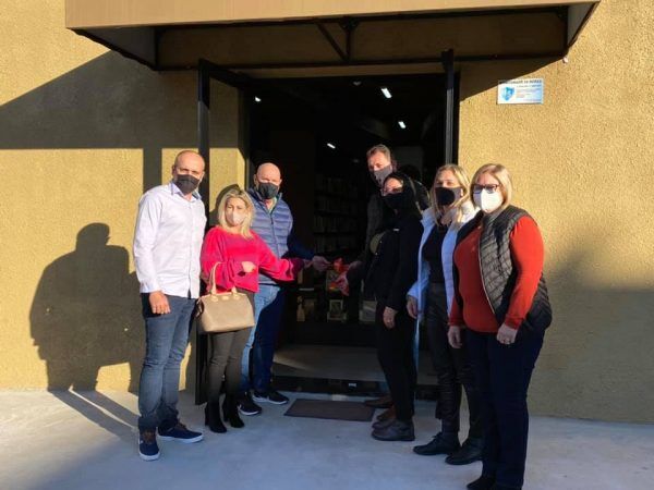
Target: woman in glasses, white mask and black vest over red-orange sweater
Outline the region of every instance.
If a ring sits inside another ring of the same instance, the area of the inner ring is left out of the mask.
[[[543,279],[543,238],[526,211],[510,206],[512,184],[500,164],[480,168],[472,196],[480,213],[459,232],[448,340],[461,329],[482,396],[482,476],[472,490],[520,489],[524,479],[526,392],[552,308]]]

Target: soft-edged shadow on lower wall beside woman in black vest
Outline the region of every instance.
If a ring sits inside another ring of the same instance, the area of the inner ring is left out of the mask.
[[[654,290],[593,284],[585,278],[603,260],[592,244],[614,236],[579,236],[547,275],[554,323],[530,389],[534,413],[654,422]]]

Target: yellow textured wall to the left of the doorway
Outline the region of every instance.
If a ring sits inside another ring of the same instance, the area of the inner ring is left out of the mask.
[[[144,188],[196,147],[194,72],[161,75],[63,28],[63,0],[0,3],[0,388],[134,389],[131,242]],[[240,101],[214,84],[211,197],[244,183]],[[11,182],[9,182],[11,181]],[[183,383],[183,380],[182,380]]]

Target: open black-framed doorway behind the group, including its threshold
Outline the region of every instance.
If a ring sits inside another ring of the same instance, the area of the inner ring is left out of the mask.
[[[349,264],[362,255],[367,200],[378,192],[367,172],[370,147],[390,147],[398,169],[427,188],[439,166],[457,161],[459,79],[448,54],[445,73],[313,78],[255,79],[201,62],[201,154],[208,162],[211,79],[237,87],[244,102],[247,185],[258,164],[277,163],[295,236],[318,255]],[[220,108],[211,115],[219,118]],[[371,305],[359,291],[346,297],[330,287],[332,274],[306,270],[298,284],[287,286],[275,385],[360,395],[386,392]],[[433,397],[436,378],[422,348],[426,342],[421,339],[420,345],[417,396]],[[197,335],[196,403],[205,400],[206,348]]]

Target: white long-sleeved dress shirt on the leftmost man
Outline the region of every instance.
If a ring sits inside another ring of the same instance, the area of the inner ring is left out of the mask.
[[[138,203],[134,262],[142,293],[199,295],[199,252],[206,217],[199,194],[184,198],[171,182],[149,189]]]

